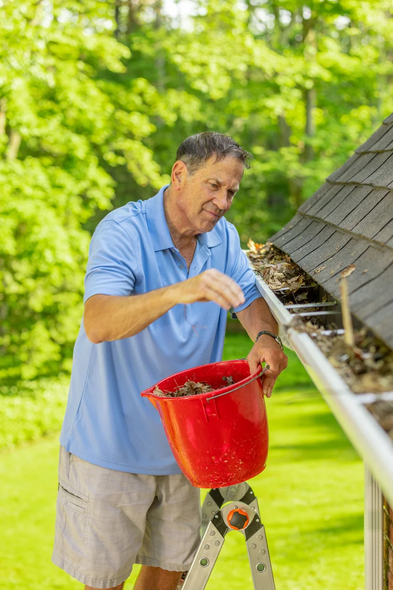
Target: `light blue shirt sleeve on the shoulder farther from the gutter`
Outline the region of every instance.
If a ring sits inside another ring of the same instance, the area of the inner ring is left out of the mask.
[[[90,242],[84,303],[98,294],[130,295],[136,273],[137,258],[131,238],[116,221],[102,221]]]

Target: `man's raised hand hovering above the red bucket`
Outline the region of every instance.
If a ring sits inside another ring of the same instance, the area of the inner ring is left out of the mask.
[[[176,283],[172,289],[176,290],[177,303],[214,301],[223,309],[230,309],[245,302],[239,285],[216,268],[209,268],[196,277]]]

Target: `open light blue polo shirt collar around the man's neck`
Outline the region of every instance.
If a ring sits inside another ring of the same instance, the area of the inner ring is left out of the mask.
[[[147,227],[153,240],[155,252],[173,248],[173,240],[164,213],[164,191],[168,186],[162,186],[156,196],[146,201]],[[209,231],[206,234],[199,234],[198,238],[207,248],[213,248],[222,243],[216,230]]]

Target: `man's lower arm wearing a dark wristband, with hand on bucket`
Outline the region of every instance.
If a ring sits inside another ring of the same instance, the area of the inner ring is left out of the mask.
[[[278,333],[278,324],[265,299],[259,297],[253,300],[248,307],[241,312],[236,312],[242,325],[247,330],[248,335],[255,342],[256,336],[262,330],[267,330],[273,334]],[[259,336],[257,342],[247,355],[247,360],[250,366],[250,373],[256,373],[258,365],[266,362],[269,365],[263,376],[262,388],[263,393],[269,398],[272,395],[273,386],[281,371],[283,371],[288,364],[288,357],[283,352],[278,342],[267,334]]]

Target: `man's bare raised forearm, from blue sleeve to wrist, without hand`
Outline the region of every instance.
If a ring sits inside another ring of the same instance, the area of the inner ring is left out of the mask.
[[[93,295],[85,303],[84,326],[95,344],[134,336],[176,305],[176,286],[143,295]]]

